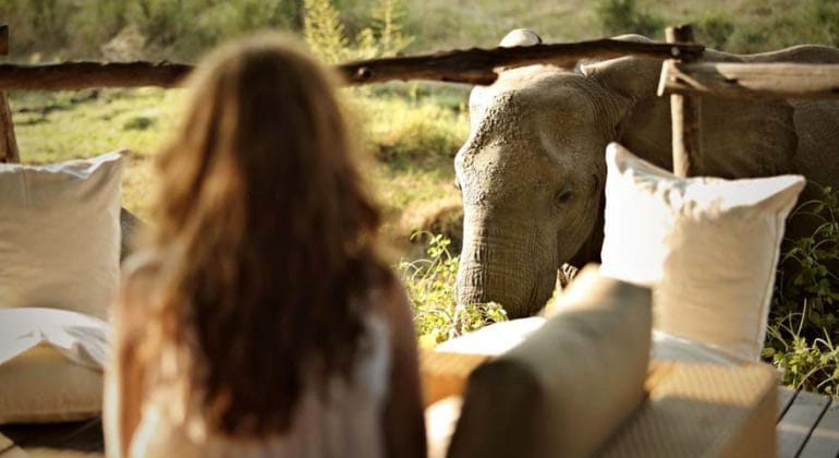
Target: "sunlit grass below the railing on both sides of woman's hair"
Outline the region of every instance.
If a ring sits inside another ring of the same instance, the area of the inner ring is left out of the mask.
[[[366,171],[387,215],[387,236],[403,249],[428,214],[459,201],[452,158],[469,134],[462,101],[447,106],[427,92],[408,92],[390,86],[377,97],[351,97],[374,158]],[[123,205],[148,218],[154,157],[178,125],[183,99],[182,91],[156,88],[14,93],[21,159],[44,164],[127,149]]]

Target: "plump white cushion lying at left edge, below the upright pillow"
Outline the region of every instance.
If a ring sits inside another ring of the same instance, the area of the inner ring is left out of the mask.
[[[0,424],[98,417],[107,334],[81,313],[0,310]]]

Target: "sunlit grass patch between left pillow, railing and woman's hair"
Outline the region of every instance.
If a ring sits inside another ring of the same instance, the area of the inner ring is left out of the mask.
[[[45,164],[127,149],[123,206],[148,217],[153,157],[177,124],[180,91],[15,93],[11,96],[21,160]]]

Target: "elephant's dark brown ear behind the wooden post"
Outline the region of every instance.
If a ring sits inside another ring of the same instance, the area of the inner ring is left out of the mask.
[[[740,60],[709,51],[709,60]],[[617,140],[644,159],[672,168],[670,98],[656,89],[661,62],[620,58],[580,68],[581,73],[631,100]],[[765,177],[794,170],[798,136],[793,107],[786,100],[701,99],[700,174],[722,178]]]

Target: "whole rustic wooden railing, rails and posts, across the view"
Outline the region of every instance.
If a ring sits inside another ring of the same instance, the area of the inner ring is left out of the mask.
[[[392,80],[491,84],[499,70],[535,63],[572,68],[584,59],[635,56],[665,60],[658,94],[671,97],[673,172],[700,169],[700,98],[839,98],[839,65],[702,62],[704,47],[689,26],[668,27],[668,43],[598,39],[527,47],[441,51],[337,65],[348,85]],[[0,25],[0,56],[9,51],[9,28]],[[62,91],[88,87],[177,87],[193,67],[171,62],[0,63],[0,161],[17,161],[17,146],[3,91]]]

